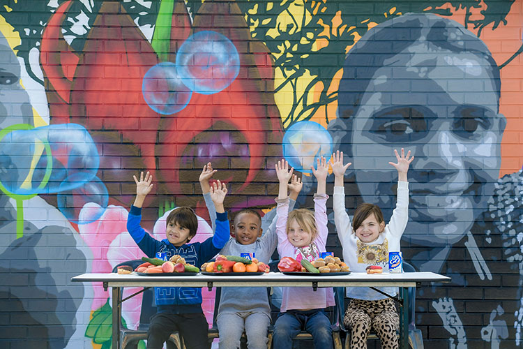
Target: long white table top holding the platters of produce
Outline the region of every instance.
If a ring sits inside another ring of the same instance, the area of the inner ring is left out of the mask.
[[[400,274],[366,274],[351,273],[348,275],[311,274],[286,275],[282,273],[266,273],[263,275],[204,275],[197,274],[186,276],[155,276],[116,273],[82,274],[75,276],[71,281],[76,282],[103,282],[109,287],[152,287],[152,286],[178,286],[178,287],[311,287],[313,283],[318,287],[416,287],[416,283],[450,282],[448,276],[432,272],[413,272]],[[211,283],[211,284],[209,284]]]

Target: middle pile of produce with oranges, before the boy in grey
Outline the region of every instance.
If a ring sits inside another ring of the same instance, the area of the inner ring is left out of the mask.
[[[256,258],[250,260],[237,255],[218,255],[214,262],[206,262],[200,269],[209,273],[268,273],[269,267]]]

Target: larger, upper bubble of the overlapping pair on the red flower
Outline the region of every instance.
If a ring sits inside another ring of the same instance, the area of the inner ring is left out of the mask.
[[[215,94],[238,76],[240,56],[226,36],[215,31],[199,31],[176,52],[176,68],[188,89],[199,94]]]

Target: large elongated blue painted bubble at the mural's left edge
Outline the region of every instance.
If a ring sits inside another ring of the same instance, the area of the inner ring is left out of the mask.
[[[89,132],[78,124],[2,130],[0,182],[8,194],[58,193],[96,176],[100,158]],[[75,177],[75,183],[64,184]]]

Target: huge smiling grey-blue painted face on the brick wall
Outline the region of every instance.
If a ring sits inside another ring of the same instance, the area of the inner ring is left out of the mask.
[[[455,243],[487,209],[505,126],[491,69],[478,54],[411,45],[374,72],[352,117],[344,142],[365,202],[390,213],[393,149],[416,156],[404,233],[411,242]]]

